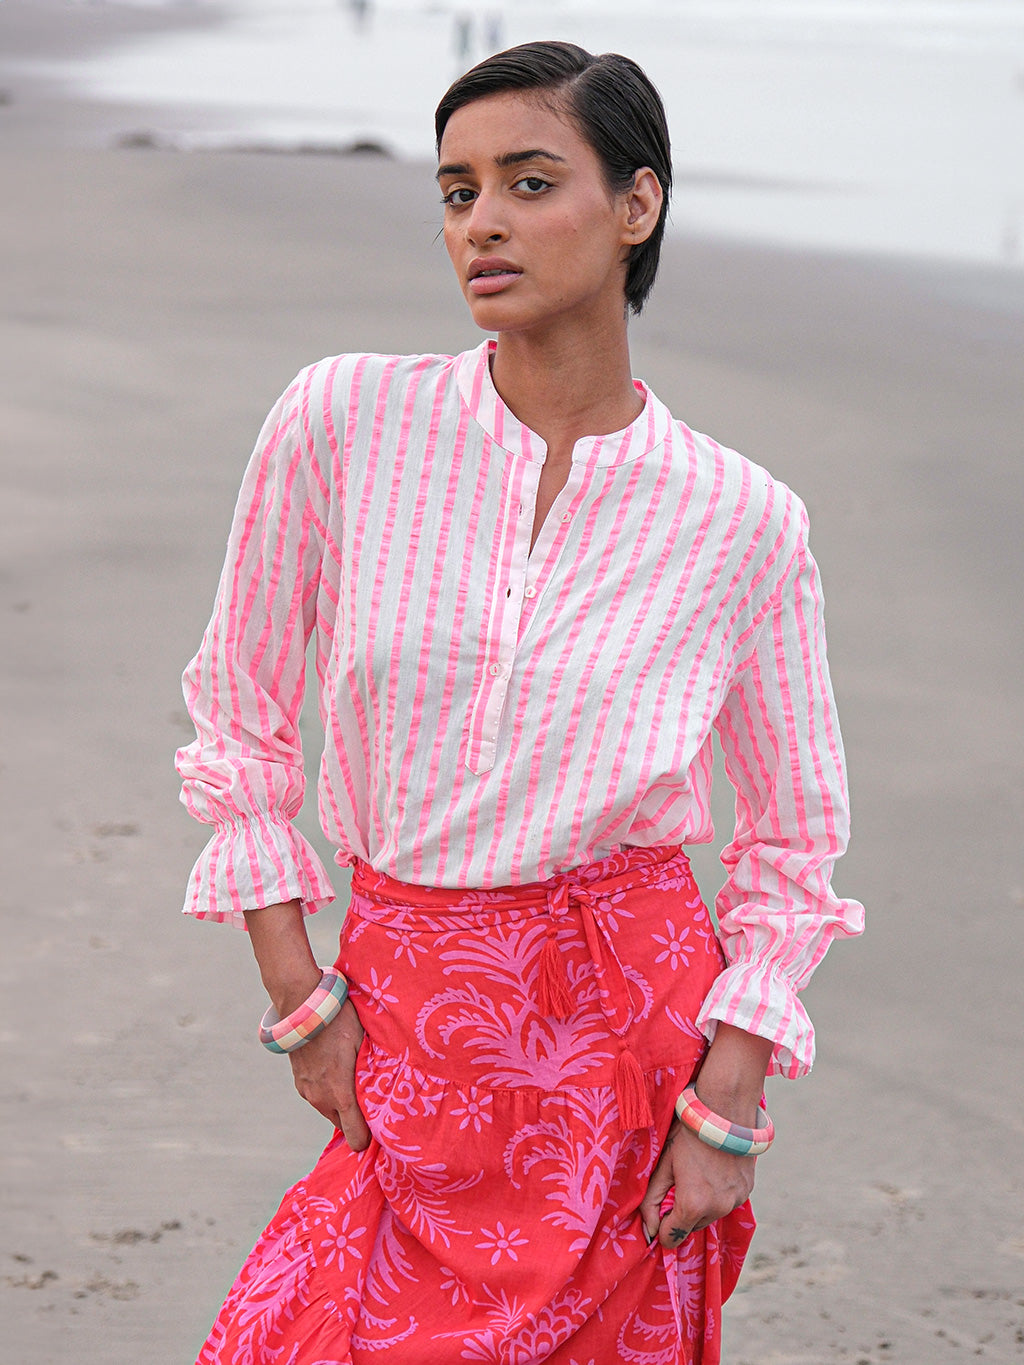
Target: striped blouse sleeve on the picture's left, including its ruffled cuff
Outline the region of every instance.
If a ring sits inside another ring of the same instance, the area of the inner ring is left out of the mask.
[[[183,688],[197,730],[179,749],[182,801],[216,833],[184,909],[244,927],[242,912],[333,900],[294,829],[304,790],[299,713],[315,624],[326,482],[303,427],[306,371],[264,425],[235,511],[213,617]]]

